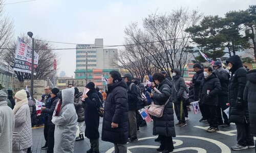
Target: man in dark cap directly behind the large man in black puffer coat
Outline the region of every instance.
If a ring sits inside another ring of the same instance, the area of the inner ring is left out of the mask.
[[[129,136],[131,139],[129,142],[138,141],[137,138],[137,120],[136,110],[139,109],[140,99],[139,91],[135,83],[132,82],[133,77],[131,74],[124,74],[124,81],[127,84],[127,95],[128,95],[128,116],[129,116]],[[131,86],[131,87],[130,87]]]

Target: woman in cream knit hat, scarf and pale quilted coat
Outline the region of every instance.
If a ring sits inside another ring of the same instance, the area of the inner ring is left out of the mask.
[[[12,149],[14,153],[27,152],[27,149],[32,146],[32,129],[30,109],[26,91],[20,90],[14,95],[15,106],[14,113],[14,130],[12,137]]]

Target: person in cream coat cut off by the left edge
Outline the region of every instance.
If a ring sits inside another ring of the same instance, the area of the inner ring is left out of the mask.
[[[7,94],[0,90],[0,152],[12,152],[14,117],[6,99]]]

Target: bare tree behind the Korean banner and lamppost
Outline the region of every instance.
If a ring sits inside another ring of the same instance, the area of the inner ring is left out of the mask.
[[[32,46],[32,40],[29,37],[23,35],[21,37],[27,44]],[[53,78],[53,61],[54,58],[57,57],[56,53],[53,50],[49,49],[52,48],[51,44],[46,43],[46,41],[38,41],[35,39],[35,52],[39,55],[38,65],[36,68],[36,75],[34,79],[49,79]],[[15,51],[16,51],[17,40],[14,39],[11,43],[9,48],[3,52],[1,56],[1,60],[3,60],[8,66],[13,68],[14,59],[15,59]],[[57,63],[59,59],[56,59]],[[17,78],[20,82],[23,82],[25,79],[31,79],[31,74],[26,72],[19,72],[14,71],[17,75]]]

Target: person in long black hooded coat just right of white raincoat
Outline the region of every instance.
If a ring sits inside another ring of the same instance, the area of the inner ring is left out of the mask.
[[[90,139],[91,148],[87,153],[99,152],[99,114],[100,105],[99,92],[95,89],[95,84],[89,82],[86,88],[90,89],[84,94],[84,120],[86,122],[86,137]]]

